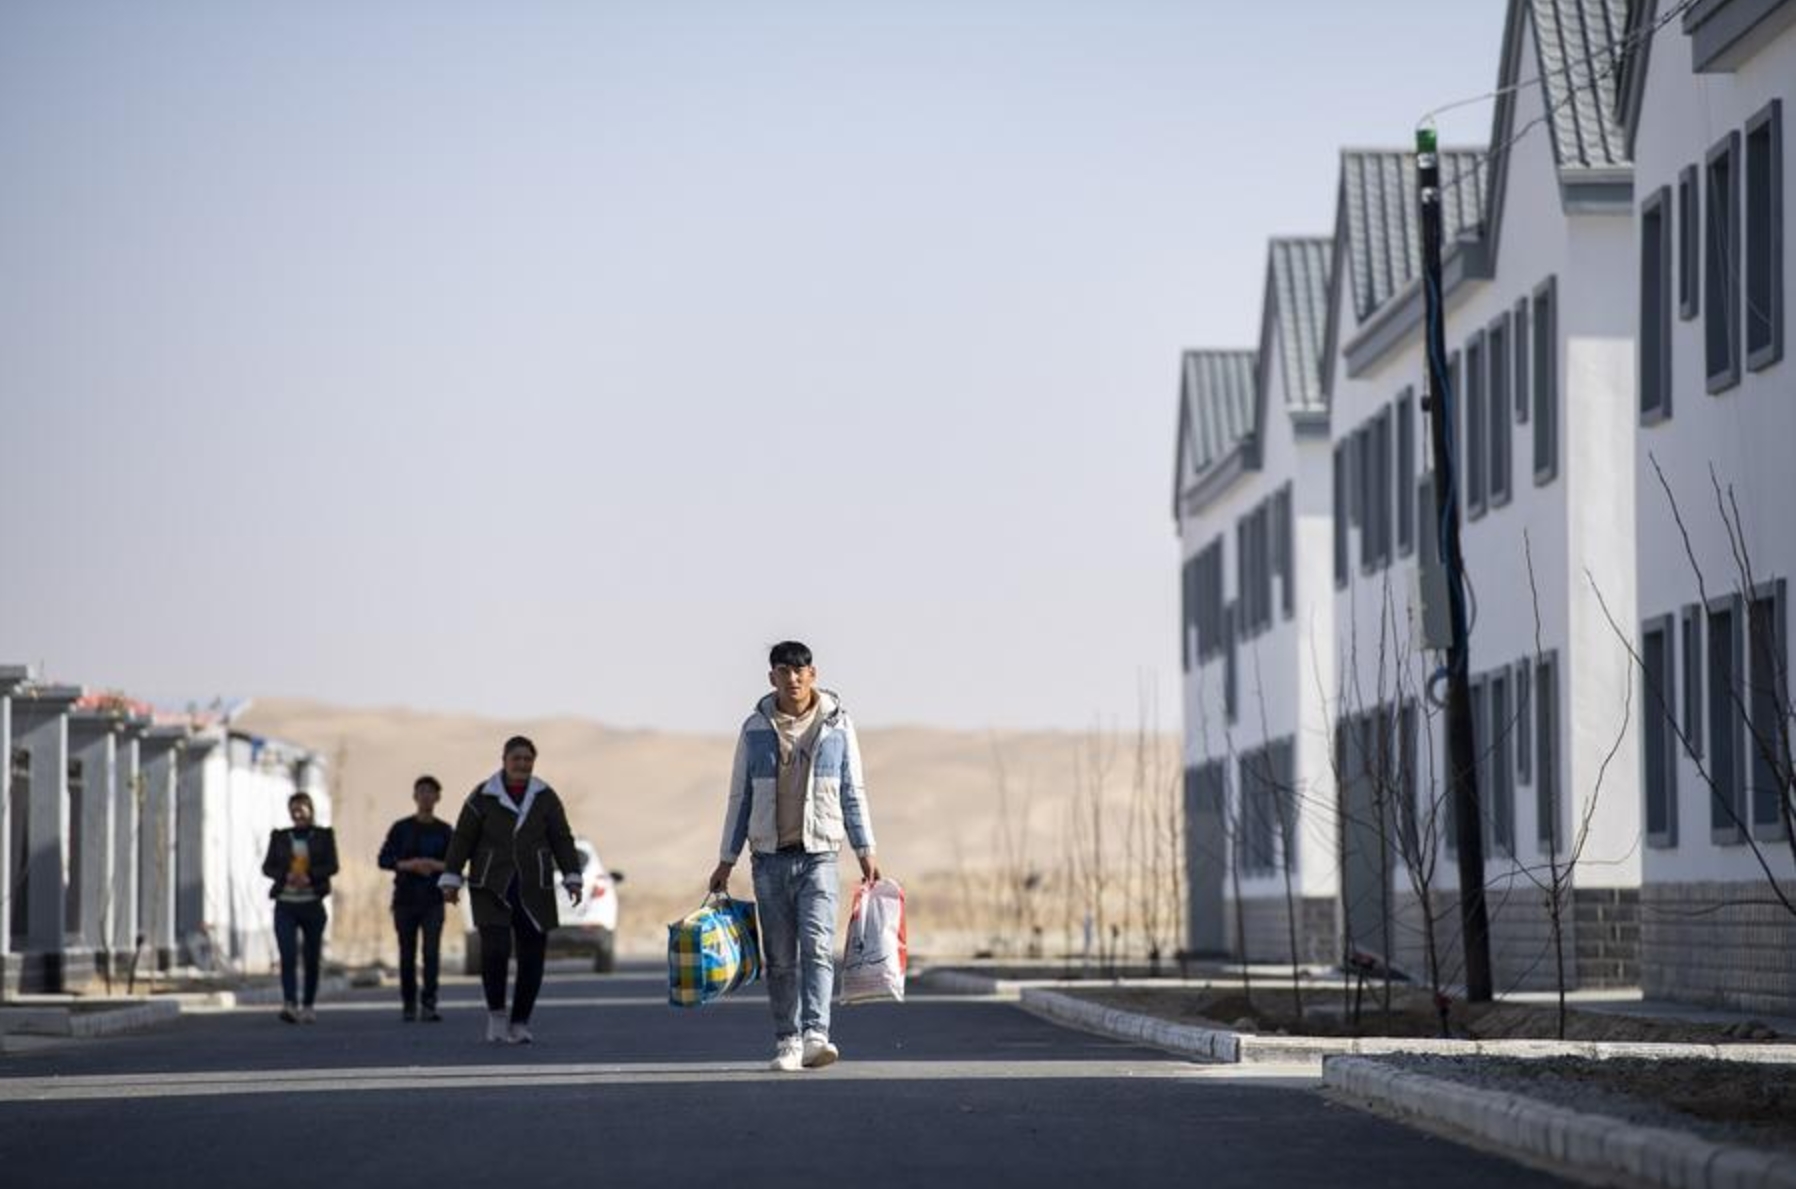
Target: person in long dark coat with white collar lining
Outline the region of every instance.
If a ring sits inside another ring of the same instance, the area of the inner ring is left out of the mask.
[[[542,963],[555,912],[555,871],[568,902],[580,903],[580,851],[568,810],[553,788],[532,776],[537,745],[523,735],[505,742],[503,767],[467,794],[444,857],[444,900],[462,885],[472,896],[480,930],[480,979],[487,990],[487,1040],[532,1044],[530,1011],[542,990]],[[467,878],[462,869],[467,868]],[[517,990],[505,1009],[505,966],[517,950]]]

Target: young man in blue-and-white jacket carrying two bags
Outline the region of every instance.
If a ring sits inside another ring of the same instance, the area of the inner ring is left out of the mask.
[[[860,744],[842,700],[817,688],[810,648],[796,639],[774,645],[767,663],[774,691],[736,736],[711,891],[729,891],[729,873],[747,844],[774,1013],[772,1069],[790,1072],[823,1069],[837,1058],[830,993],[841,887],[835,857],[844,835],[860,875],[876,880],[880,871]]]

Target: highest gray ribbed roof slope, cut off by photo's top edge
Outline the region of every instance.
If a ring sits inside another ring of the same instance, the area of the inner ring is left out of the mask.
[[[1620,79],[1627,0],[1525,2],[1534,16],[1554,160],[1561,169],[1625,167]]]

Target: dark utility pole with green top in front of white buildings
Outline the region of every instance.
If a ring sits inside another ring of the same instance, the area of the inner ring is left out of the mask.
[[[1471,722],[1471,641],[1466,621],[1466,557],[1458,539],[1458,485],[1453,467],[1455,418],[1464,410],[1448,379],[1448,329],[1440,293],[1440,154],[1435,129],[1415,133],[1422,207],[1422,309],[1428,343],[1428,429],[1435,456],[1435,528],[1448,580],[1448,796],[1458,846],[1460,938],[1466,943],[1466,999],[1491,1000],[1491,918],[1483,903],[1483,815],[1478,810],[1478,744]],[[1426,907],[1426,905],[1424,905]]]

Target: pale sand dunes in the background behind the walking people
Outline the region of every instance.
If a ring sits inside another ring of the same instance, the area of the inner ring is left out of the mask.
[[[386,941],[386,876],[374,855],[386,826],[409,812],[413,778],[431,772],[442,779],[444,812],[453,815],[467,790],[497,767],[499,745],[514,733],[537,742],[537,772],[568,801],[575,832],[593,839],[607,866],[627,873],[620,925],[625,948],[661,947],[665,921],[702,898],[717,862],[733,733],[623,731],[580,718],[501,722],[278,699],[255,702],[239,726],[313,747],[332,765],[332,824],[345,855],[332,927],[339,954]],[[1027,862],[1043,875],[1042,896],[1065,900],[1056,873],[1069,851],[1076,772],[1081,765],[1090,771],[1088,735],[875,727],[862,729],[860,745],[880,860],[911,893],[912,938],[934,941],[938,950],[966,948],[1009,929],[997,889],[1004,796],[1011,819],[1020,823],[1027,814],[1029,821],[1026,848],[1013,850],[1026,850]],[[1108,745],[1105,850],[1119,866],[1135,744]],[[1157,785],[1169,790],[1176,736],[1155,736],[1149,749],[1158,763]],[[999,787],[1000,762],[1008,794]],[[1020,828],[1015,837],[1024,842]],[[745,864],[736,880],[745,893]],[[1042,923],[1067,912],[1061,905],[1054,916],[1043,905]]]

